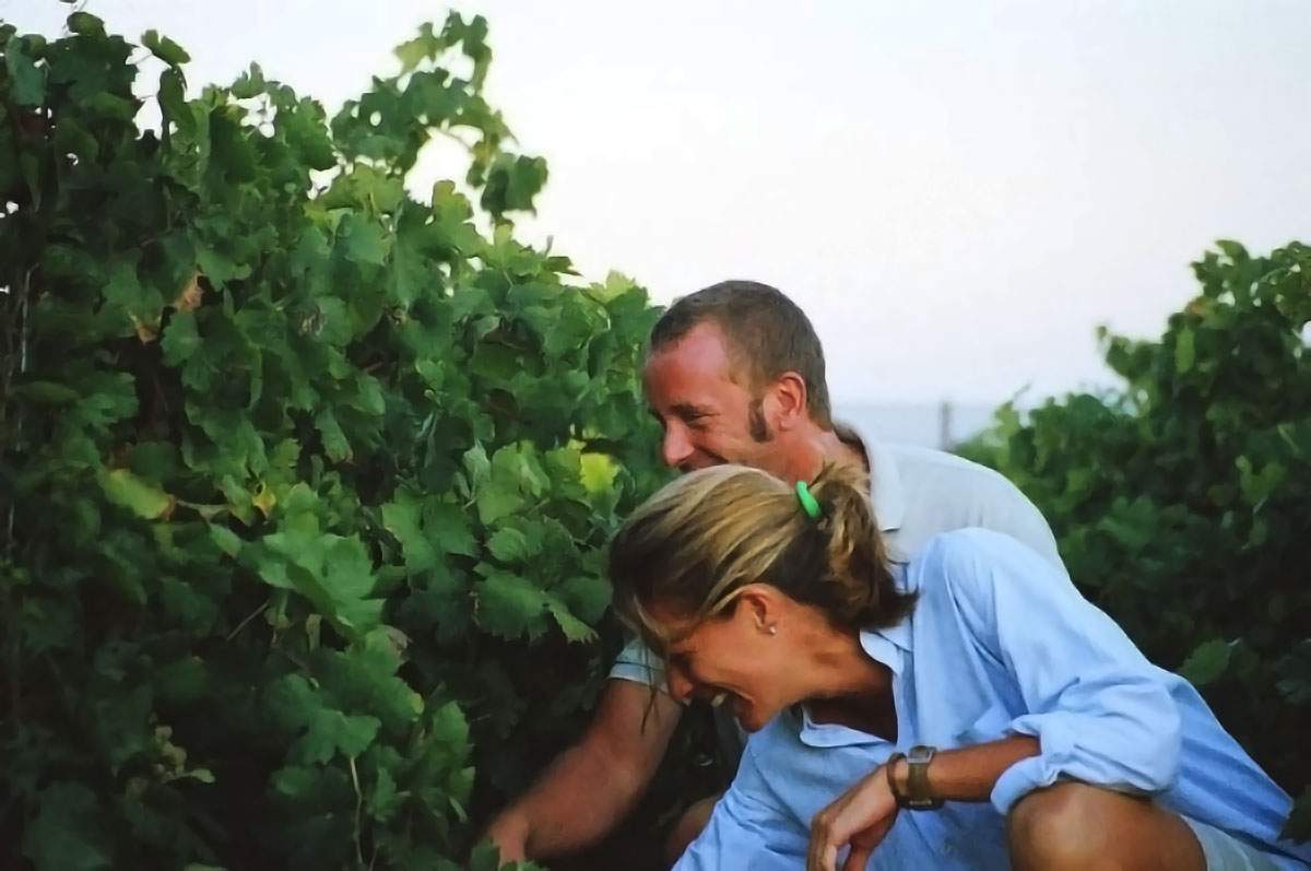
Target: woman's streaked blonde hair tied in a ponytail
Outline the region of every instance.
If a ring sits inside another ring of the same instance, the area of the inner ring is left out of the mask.
[[[646,606],[700,622],[728,610],[745,585],[763,582],[839,627],[901,620],[915,597],[894,585],[865,474],[826,466],[810,493],[819,518],[805,513],[792,485],[746,466],[714,466],[665,485],[611,543],[620,617],[662,651],[673,639]]]

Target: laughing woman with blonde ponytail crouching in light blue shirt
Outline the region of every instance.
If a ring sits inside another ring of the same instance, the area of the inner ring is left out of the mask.
[[[615,538],[671,694],[755,733],[679,868],[1308,867],[1289,796],[1059,572],[985,530],[890,563],[865,492],[720,466]]]

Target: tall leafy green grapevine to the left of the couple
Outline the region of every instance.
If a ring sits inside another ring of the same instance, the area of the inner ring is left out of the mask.
[[[85,12],[0,47],[0,248],[30,296],[0,426],[14,851],[465,867],[475,796],[520,788],[603,679],[578,645],[616,638],[604,542],[662,480],[656,310],[503,219],[548,168],[506,151],[480,17],[332,117]],[[472,201],[406,184],[452,136]],[[1281,463],[1272,504],[1301,485]]]

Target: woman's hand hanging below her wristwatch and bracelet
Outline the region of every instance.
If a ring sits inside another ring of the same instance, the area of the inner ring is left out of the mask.
[[[851,845],[842,871],[863,871],[897,821],[897,799],[888,783],[888,766],[878,766],[843,792],[810,821],[806,871],[838,871],[838,851]]]

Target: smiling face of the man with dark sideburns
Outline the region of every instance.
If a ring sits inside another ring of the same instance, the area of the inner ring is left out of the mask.
[[[760,397],[746,373],[733,378],[720,328],[705,321],[650,355],[642,370],[646,401],[665,429],[661,459],[683,472],[741,463],[780,474]]]

